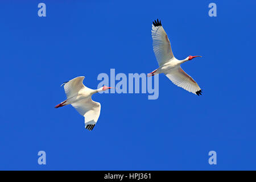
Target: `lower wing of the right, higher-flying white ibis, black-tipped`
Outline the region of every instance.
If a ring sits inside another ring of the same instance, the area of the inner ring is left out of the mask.
[[[175,85],[180,86],[188,92],[197,94],[197,96],[199,96],[199,94],[201,95],[202,90],[199,85],[197,85],[195,80],[193,80],[193,78],[185,73],[180,67],[165,74]]]

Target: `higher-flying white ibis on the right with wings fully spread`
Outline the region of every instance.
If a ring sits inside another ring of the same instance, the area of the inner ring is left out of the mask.
[[[175,85],[192,92],[193,94],[201,95],[202,90],[199,85],[187,73],[181,69],[180,64],[195,57],[202,56],[188,56],[184,60],[177,60],[172,53],[170,40],[162,27],[161,20],[155,20],[152,24],[151,35],[153,39],[153,49],[155,57],[158,60],[159,68],[148,73],[148,77],[155,74],[164,73]]]

